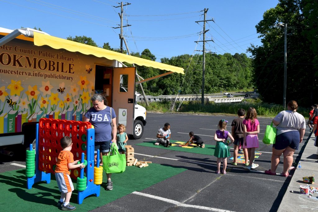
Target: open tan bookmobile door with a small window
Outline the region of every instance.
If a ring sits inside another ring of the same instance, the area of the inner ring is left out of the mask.
[[[126,126],[126,133],[133,134],[135,67],[114,68],[113,73],[113,108],[116,112],[116,124]]]

